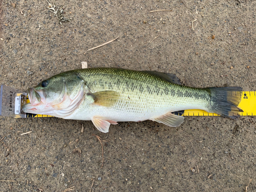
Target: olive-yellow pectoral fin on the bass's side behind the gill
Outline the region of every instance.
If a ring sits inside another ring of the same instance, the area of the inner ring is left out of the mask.
[[[88,93],[94,100],[94,103],[101,106],[112,106],[119,98],[119,93],[116,91],[100,91],[96,93]]]

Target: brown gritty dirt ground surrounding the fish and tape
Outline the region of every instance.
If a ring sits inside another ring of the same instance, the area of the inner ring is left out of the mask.
[[[60,25],[44,0],[1,1],[0,84],[26,91],[87,61],[256,91],[256,1],[51,3],[71,22]],[[172,11],[149,13],[162,9]],[[0,117],[0,180],[14,181],[0,181],[0,191],[256,191],[255,123],[185,117],[177,128],[121,122],[103,134],[91,121]],[[102,168],[93,134],[109,141]]]

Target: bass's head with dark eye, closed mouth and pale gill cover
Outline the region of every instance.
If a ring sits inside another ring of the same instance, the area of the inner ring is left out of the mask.
[[[66,117],[74,112],[88,91],[84,80],[74,72],[55,75],[28,89],[30,103],[25,113]]]

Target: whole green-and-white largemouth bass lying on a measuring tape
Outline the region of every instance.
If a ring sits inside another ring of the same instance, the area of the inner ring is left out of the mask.
[[[172,112],[199,109],[236,119],[241,87],[193,88],[174,74],[119,68],[77,69],[54,75],[28,89],[23,112],[63,119],[91,120],[103,133],[122,121],[152,120],[177,127]]]

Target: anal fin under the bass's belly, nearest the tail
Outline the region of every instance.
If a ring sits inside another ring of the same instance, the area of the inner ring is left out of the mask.
[[[166,113],[160,117],[152,118],[152,121],[163,123],[167,126],[179,126],[184,121],[183,116],[174,115],[172,113]]]

